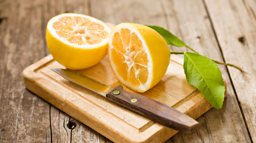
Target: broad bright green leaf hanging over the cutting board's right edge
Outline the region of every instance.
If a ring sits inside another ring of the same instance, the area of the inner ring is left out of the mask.
[[[187,82],[197,87],[213,107],[220,109],[225,86],[218,65],[205,56],[184,52],[183,68]]]

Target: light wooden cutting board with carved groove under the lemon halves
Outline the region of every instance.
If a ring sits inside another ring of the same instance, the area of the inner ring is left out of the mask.
[[[212,105],[197,88],[187,83],[182,63],[181,57],[171,55],[168,70],[161,81],[150,90],[138,94],[197,119]],[[110,103],[105,97],[62,78],[50,68],[65,67],[51,55],[46,56],[23,71],[25,86],[112,141],[159,143],[178,132]],[[111,70],[107,56],[95,66],[77,72],[111,87],[120,84]],[[125,86],[124,90],[134,92]]]

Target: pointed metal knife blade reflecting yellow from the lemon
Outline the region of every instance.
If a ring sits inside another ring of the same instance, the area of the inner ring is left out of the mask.
[[[97,82],[96,80],[91,79],[75,71],[60,69],[60,68],[51,68],[51,70],[55,71],[65,79],[72,81],[87,89],[90,89],[105,97],[106,97],[106,94],[113,89],[112,87],[109,87],[100,82]]]

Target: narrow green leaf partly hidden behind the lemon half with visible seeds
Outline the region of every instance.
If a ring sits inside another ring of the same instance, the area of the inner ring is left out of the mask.
[[[183,41],[181,41],[179,38],[174,36],[171,32],[167,31],[163,27],[154,26],[154,25],[145,25],[145,26],[148,26],[156,30],[163,37],[163,39],[167,42],[168,45],[174,45],[177,47],[186,46],[186,44]]]

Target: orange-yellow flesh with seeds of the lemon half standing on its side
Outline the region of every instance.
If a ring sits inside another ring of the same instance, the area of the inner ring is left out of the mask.
[[[148,79],[148,59],[139,37],[129,29],[120,29],[112,40],[112,58],[117,72],[133,86],[145,84]]]

